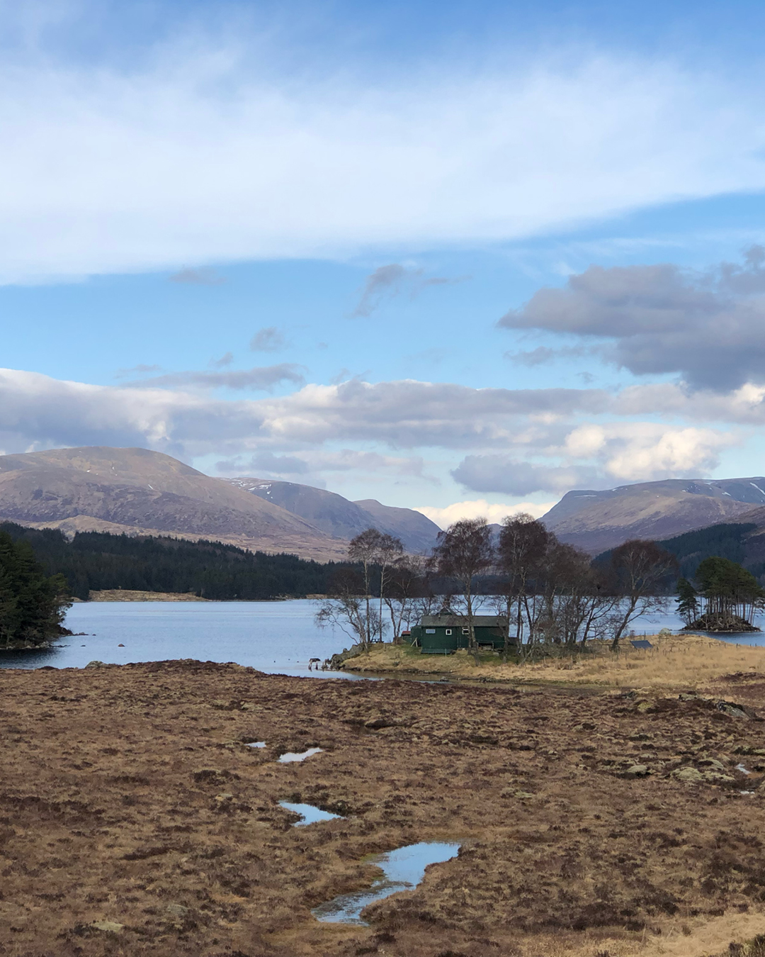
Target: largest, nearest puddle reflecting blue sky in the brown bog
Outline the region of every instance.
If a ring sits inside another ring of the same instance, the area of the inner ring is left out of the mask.
[[[384,874],[384,878],[374,881],[369,890],[356,891],[353,894],[340,894],[332,901],[319,904],[311,913],[318,921],[332,924],[363,924],[361,911],[374,901],[382,901],[391,894],[408,891],[416,887],[425,877],[428,864],[457,857],[459,844],[423,842],[408,844],[387,854],[365,857],[364,863],[375,864]]]

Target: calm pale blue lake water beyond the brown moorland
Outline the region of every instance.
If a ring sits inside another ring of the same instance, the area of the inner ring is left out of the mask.
[[[0,654],[0,667],[82,668],[98,659],[107,664],[198,658],[236,661],[259,671],[316,678],[348,678],[343,672],[309,671],[309,658],[322,661],[351,645],[340,631],[314,624],[317,603],[283,602],[93,602],[74,605],[66,625],[83,636],[62,638],[50,651]],[[682,626],[676,614],[636,620],[636,634]],[[765,632],[727,635],[725,640],[765,645]],[[124,647],[120,648],[120,644]]]

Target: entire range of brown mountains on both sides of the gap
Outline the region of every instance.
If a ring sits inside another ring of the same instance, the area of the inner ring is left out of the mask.
[[[400,538],[412,553],[432,548],[440,531],[420,512],[374,499],[349,501],[296,482],[211,478],[160,452],[108,447],[0,456],[0,521],[73,534],[212,539],[320,562],[343,560],[350,539],[369,527]],[[575,490],[542,521],[593,555],[630,538],[661,541],[716,523],[765,529],[765,478]]]

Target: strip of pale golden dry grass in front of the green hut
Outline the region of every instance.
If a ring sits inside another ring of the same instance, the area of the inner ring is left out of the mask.
[[[610,688],[701,688],[711,680],[737,672],[765,674],[765,648],[735,645],[697,634],[649,636],[651,651],[623,649],[617,656],[606,644],[592,643],[587,654],[555,657],[533,664],[503,664],[482,656],[475,665],[466,652],[420,655],[408,646],[377,645],[368,655],[352,658],[349,671],[437,674],[462,679],[518,683],[565,683]]]

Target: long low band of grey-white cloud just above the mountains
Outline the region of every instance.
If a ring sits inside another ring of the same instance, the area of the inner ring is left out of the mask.
[[[215,382],[230,374],[248,373],[194,373]],[[267,471],[312,480],[357,472],[433,481],[427,456],[456,453],[463,458],[452,475],[465,488],[523,496],[704,474],[741,440],[730,423],[710,428],[623,420],[624,412],[640,408],[656,415],[661,406],[671,409],[674,398],[687,418],[694,402],[704,415],[717,402],[721,409],[743,410],[745,426],[765,424],[765,387],[747,387],[739,399],[720,405],[715,393],[667,386],[611,394],[353,380],[223,400],[197,389],[196,379],[181,385],[93,386],[0,370],[0,447],[144,446],[186,459],[225,456],[230,474]]]

